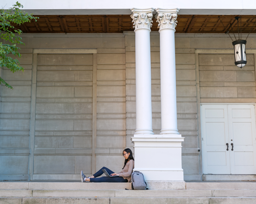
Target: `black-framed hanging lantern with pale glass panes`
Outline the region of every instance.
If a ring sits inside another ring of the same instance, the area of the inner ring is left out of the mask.
[[[246,40],[236,40],[232,44],[234,46],[234,64],[242,69],[247,63],[245,51]]]

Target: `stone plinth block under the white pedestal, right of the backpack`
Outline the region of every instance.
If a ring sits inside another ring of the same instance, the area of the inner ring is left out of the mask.
[[[184,190],[186,182],[184,181],[146,181],[147,188],[150,190]]]

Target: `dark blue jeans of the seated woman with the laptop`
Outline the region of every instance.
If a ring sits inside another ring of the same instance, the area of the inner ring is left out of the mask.
[[[110,169],[106,168],[106,167],[102,167],[98,172],[96,172],[95,174],[93,174],[94,179],[90,178],[90,182],[94,182],[94,183],[101,183],[101,182],[109,182],[109,183],[124,183],[124,182],[128,182],[127,179],[123,179],[122,176],[115,176],[115,177],[107,177],[107,176],[103,176],[100,178],[97,178],[98,176],[102,175],[102,173],[104,173],[102,171],[102,169],[105,169],[109,174],[114,173],[113,171],[111,171]]]

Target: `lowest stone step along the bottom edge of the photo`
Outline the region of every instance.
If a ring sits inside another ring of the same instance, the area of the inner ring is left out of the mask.
[[[106,198],[0,198],[0,203],[5,204],[255,204],[256,197],[244,198],[244,197],[210,197],[210,198],[173,198],[173,197],[149,197],[149,198],[118,198],[118,197],[106,197]]]

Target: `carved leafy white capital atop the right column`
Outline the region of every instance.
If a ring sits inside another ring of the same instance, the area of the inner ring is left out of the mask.
[[[179,9],[156,9],[158,29],[175,29]]]

